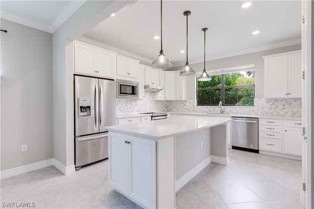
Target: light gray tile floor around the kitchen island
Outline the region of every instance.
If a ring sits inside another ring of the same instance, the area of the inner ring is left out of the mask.
[[[231,149],[229,157],[228,166],[210,163],[183,186],[176,208],[302,208],[300,161]],[[107,175],[107,161],[67,176],[50,166],[1,180],[0,199],[38,209],[140,209],[108,185]]]

